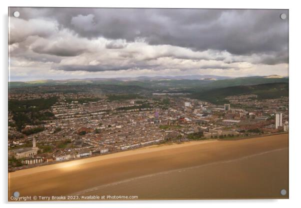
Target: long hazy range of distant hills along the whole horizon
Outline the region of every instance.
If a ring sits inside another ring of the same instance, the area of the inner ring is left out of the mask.
[[[228,86],[253,85],[274,82],[288,83],[288,77],[248,76],[231,78],[226,76],[210,75],[186,75],[186,76],[139,76],[135,78],[92,78],[92,79],[67,79],[67,80],[38,80],[38,81],[11,81],[9,88],[35,87],[35,86],[55,86],[55,85],[122,85],[139,86],[163,90],[170,88],[177,89],[211,89]]]

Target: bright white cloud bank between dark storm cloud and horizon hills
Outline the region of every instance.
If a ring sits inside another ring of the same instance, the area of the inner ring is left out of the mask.
[[[88,29],[92,28],[93,19],[93,14],[77,15],[71,22],[76,27]],[[197,51],[169,44],[152,45],[144,37],[133,41],[82,37],[51,19],[11,17],[10,22],[12,79],[184,74],[288,75],[286,63],[261,64],[262,60],[273,62],[275,52],[235,55],[217,49]],[[22,28],[21,32],[17,28]]]

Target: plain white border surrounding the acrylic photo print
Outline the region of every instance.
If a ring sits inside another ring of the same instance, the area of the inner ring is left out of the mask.
[[[300,102],[300,7],[296,3],[297,1],[288,0],[273,0],[273,1],[263,1],[263,0],[209,0],[209,1],[197,1],[197,0],[81,0],[81,1],[62,1],[62,0],[9,0],[1,1],[1,94],[2,99],[0,101],[1,109],[1,119],[0,119],[0,132],[1,136],[1,147],[2,147],[2,168],[1,168],[1,203],[6,206],[16,206],[17,204],[7,204],[7,10],[8,6],[72,6],[72,7],[173,7],[173,8],[281,8],[289,9],[289,198],[281,200],[201,200],[201,201],[99,201],[99,202],[89,202],[89,206],[95,207],[165,207],[166,205],[172,205],[174,207],[182,206],[212,206],[212,207],[254,207],[254,206],[272,206],[272,207],[294,207],[299,203],[299,193],[300,193],[300,161],[301,158],[300,148],[301,148],[301,137],[298,127],[300,126],[300,112],[301,112],[301,102]],[[6,149],[6,150],[5,150]],[[229,187],[230,188],[230,187]],[[59,202],[43,203],[43,207],[53,207],[53,205],[58,205]],[[40,207],[39,203],[28,202],[26,204],[19,204],[23,207]],[[86,206],[86,202],[76,203],[76,202],[66,202],[65,207],[83,207]]]

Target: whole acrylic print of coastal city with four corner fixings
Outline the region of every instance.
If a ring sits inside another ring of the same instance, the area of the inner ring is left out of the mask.
[[[8,13],[9,201],[288,198],[288,10]]]

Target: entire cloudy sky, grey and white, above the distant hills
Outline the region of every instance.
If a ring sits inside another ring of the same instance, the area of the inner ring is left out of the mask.
[[[13,17],[13,11],[19,17]],[[10,80],[288,75],[287,10],[10,8]]]

